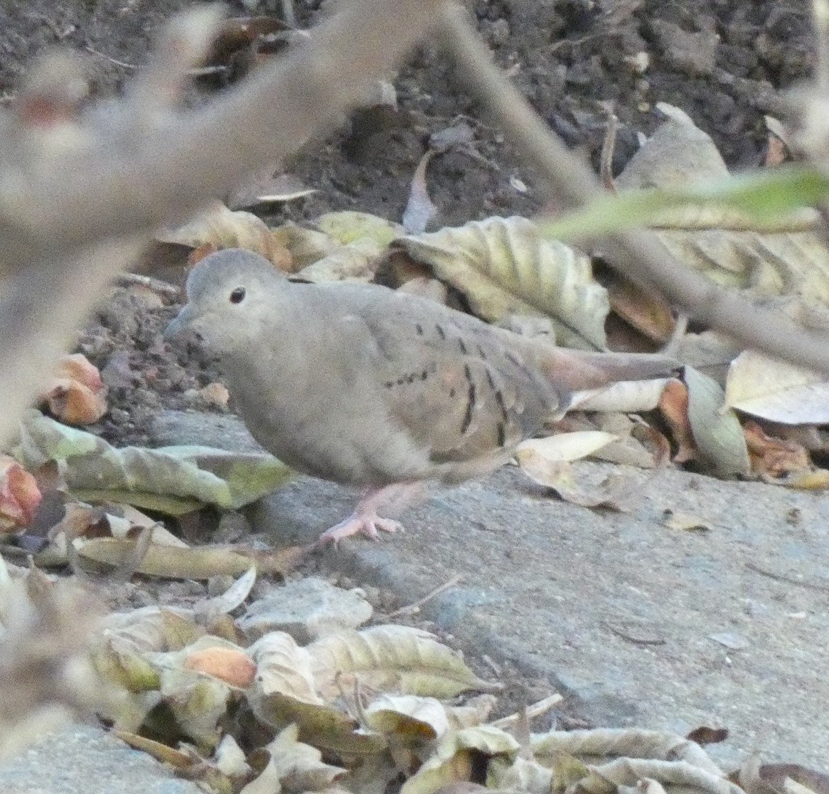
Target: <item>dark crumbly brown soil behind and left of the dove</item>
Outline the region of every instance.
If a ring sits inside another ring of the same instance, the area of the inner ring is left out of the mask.
[[[55,44],[85,53],[96,94],[118,91],[146,61],[153,31],[191,5],[183,0],[6,0],[0,5],[2,97],[11,99],[27,65]],[[312,24],[321,5],[297,0],[298,23]],[[660,122],[657,102],[685,110],[714,138],[730,167],[762,162],[764,115],[783,115],[783,91],[807,76],[808,5],[806,0],[471,3],[497,62],[510,70],[550,126],[594,162],[608,109],[613,109],[621,124],[616,172],[635,151],[638,134],[647,135]],[[240,2],[231,2],[230,11],[245,14]],[[539,210],[543,201],[531,173],[522,170],[497,129],[479,119],[468,96],[456,90],[439,51],[421,49],[394,82],[396,114],[354,114],[342,129],[286,164],[317,192],[268,220],[308,220],[341,209],[400,220],[429,135],[458,117],[473,128],[479,157],[456,150],[434,158],[429,190],[443,213],[439,225]],[[517,191],[511,177],[520,178],[526,192]],[[171,351],[162,341],[162,328],[176,310],[170,298],[115,288],[81,334],[80,351],[99,366],[109,385],[109,414],[93,428],[109,441],[146,443],[149,421],[162,408],[221,410],[199,393],[217,379],[209,362],[195,351]],[[528,691],[531,699],[545,694],[543,689],[518,674],[511,682],[517,703],[528,699]]]

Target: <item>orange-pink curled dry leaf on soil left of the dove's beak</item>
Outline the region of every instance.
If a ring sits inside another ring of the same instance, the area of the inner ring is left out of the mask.
[[[92,424],[107,412],[106,386],[98,368],[80,353],[61,359],[41,399],[51,414],[69,424]]]

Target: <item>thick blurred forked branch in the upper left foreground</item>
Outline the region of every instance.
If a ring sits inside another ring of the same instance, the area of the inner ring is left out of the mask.
[[[33,70],[17,109],[0,116],[0,437],[155,228],[302,146],[423,37],[438,9],[439,0],[351,2],[283,60],[192,112],[177,104],[215,29],[210,8],[174,21],[124,99],[81,119],[70,112],[70,62]]]

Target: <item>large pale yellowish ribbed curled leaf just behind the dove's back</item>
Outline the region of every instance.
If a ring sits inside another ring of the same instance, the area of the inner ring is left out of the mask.
[[[508,314],[545,314],[565,346],[604,348],[607,291],[590,260],[541,237],[526,218],[487,218],[433,234],[395,241],[412,259],[468,299],[473,311],[495,322]]]

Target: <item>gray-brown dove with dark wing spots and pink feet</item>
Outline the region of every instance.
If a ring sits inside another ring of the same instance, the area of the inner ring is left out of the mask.
[[[257,442],[300,472],[365,489],[322,545],[400,529],[384,506],[494,471],[574,392],[678,367],[565,350],[376,284],[291,282],[243,249],[201,259],[186,290],[164,337],[187,331],[216,356]]]

